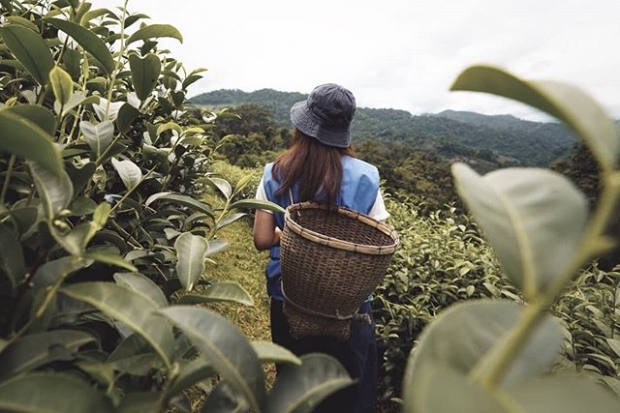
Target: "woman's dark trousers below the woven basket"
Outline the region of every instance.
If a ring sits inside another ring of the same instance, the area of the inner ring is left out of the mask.
[[[308,353],[326,353],[340,361],[357,383],[327,397],[313,413],[374,413],[377,406],[377,344],[375,323],[370,303],[360,307],[372,324],[353,322],[351,336],[346,341],[332,337],[304,337],[296,339],[289,333],[288,322],[282,311],[283,302],[271,300],[271,338],[297,356]],[[286,366],[276,366],[279,370]]]

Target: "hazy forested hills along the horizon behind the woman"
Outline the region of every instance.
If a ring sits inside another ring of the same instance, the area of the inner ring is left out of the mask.
[[[274,121],[290,128],[289,109],[304,100],[302,93],[261,89],[255,92],[217,90],[190,102],[210,108],[256,104],[269,108]],[[352,124],[354,142],[399,143],[455,159],[460,156],[498,160],[504,165],[549,166],[570,152],[577,141],[557,123],[532,122],[510,115],[488,116],[444,111],[412,115],[398,109],[358,108]]]

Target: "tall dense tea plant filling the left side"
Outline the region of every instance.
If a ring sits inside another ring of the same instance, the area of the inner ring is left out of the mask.
[[[351,384],[196,305],[251,304],[205,262],[221,228],[278,208],[212,175],[218,114],[185,106],[203,70],[159,44],[181,33],[127,1],[1,3],[0,410],[190,411],[194,386],[205,411],[303,412]],[[273,361],[290,369],[267,393]]]

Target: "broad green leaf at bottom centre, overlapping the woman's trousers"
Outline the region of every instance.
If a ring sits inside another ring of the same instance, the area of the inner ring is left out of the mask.
[[[278,373],[264,411],[310,413],[325,397],[353,383],[335,358],[326,354],[307,354],[301,357],[301,365],[288,365]]]

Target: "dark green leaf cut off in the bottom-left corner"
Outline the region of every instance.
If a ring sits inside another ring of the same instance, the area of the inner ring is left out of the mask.
[[[70,395],[70,396],[69,396]],[[0,383],[5,412],[113,412],[105,393],[68,374],[32,374]]]

